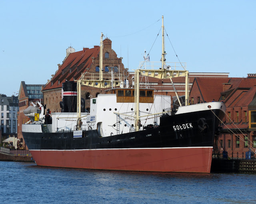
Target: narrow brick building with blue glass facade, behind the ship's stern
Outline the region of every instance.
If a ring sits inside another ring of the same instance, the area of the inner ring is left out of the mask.
[[[18,118],[18,139],[20,139],[19,149],[28,149],[22,136],[22,124],[29,121],[29,118],[24,115],[23,111],[30,106],[30,102],[41,101],[44,104],[42,87],[44,84],[25,84],[24,81],[20,83],[20,90],[18,95],[19,110],[17,113]]]

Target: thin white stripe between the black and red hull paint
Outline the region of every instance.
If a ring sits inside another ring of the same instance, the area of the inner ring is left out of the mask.
[[[89,150],[125,150],[125,149],[198,149],[213,147],[163,147],[163,148],[113,148],[113,149],[30,149],[30,151],[89,151]]]

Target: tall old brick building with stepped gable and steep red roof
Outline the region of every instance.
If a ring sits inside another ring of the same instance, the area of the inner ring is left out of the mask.
[[[122,57],[118,58],[116,52],[112,49],[112,41],[108,38],[103,40],[103,75],[105,80],[111,80],[111,69],[114,73],[122,74],[124,65]],[[60,101],[62,101],[62,83],[67,81],[78,80],[81,73],[86,73],[86,76],[91,79],[92,76],[100,72],[100,46],[94,48],[84,48],[82,51],[75,52],[73,48],[67,49],[67,57],[62,65],[58,65],[58,70],[55,75],[52,75],[51,80],[48,80],[44,93],[44,102],[46,108],[51,112],[60,112]],[[96,78],[98,79],[98,78]],[[114,80],[124,80],[114,78]],[[105,88],[108,89],[108,88]],[[90,109],[90,97],[96,97],[98,94],[104,94],[104,89],[95,87],[82,86],[82,98],[85,99],[85,107]]]

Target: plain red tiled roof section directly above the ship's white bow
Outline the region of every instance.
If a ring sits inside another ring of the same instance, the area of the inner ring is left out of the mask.
[[[223,83],[227,83],[229,78],[218,78],[218,77],[196,77],[194,82],[197,83],[203,100],[206,102],[211,102],[212,99],[218,101],[220,98],[220,92],[223,90]],[[194,84],[194,83],[193,83]]]

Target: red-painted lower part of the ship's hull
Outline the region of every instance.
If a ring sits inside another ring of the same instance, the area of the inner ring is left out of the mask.
[[[37,165],[120,171],[210,173],[212,147],[31,150]]]

